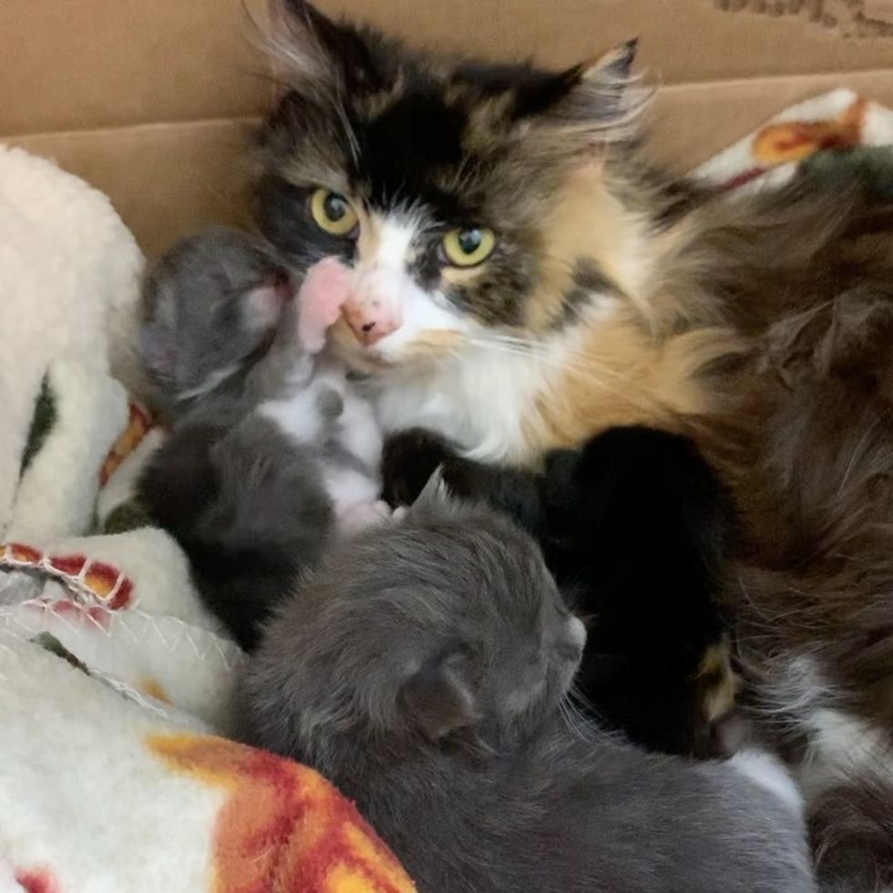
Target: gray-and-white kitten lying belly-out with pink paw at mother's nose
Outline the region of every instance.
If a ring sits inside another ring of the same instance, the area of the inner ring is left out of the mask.
[[[181,241],[146,282],[143,355],[174,427],[138,498],[245,648],[335,529],[389,515],[375,418],[323,350],[338,294],[323,261],[295,300],[271,254],[226,229]]]

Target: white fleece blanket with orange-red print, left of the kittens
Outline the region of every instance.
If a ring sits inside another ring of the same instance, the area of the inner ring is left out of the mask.
[[[331,785],[212,734],[241,652],[177,545],[96,532],[161,437],[142,263],[105,196],[0,146],[0,893],[410,890]]]

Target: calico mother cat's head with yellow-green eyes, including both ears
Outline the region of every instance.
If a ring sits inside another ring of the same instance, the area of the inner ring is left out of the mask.
[[[614,209],[593,195],[631,114],[632,46],[550,74],[416,56],[303,3],[277,18],[289,89],[264,129],[258,219],[296,267],[349,268],[349,360],[542,337],[613,299],[622,271],[591,233]]]

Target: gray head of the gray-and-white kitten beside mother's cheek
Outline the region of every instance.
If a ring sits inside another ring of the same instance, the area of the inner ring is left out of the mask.
[[[227,227],[160,259],[143,287],[140,346],[169,415],[199,410],[220,421],[282,391],[301,349],[293,290],[266,245]]]

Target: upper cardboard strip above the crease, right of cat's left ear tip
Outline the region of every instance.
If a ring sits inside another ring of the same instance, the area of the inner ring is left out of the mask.
[[[851,3],[852,0],[845,0]],[[734,3],[734,0],[730,0]],[[730,14],[715,0],[317,0],[438,48],[573,65],[639,36],[664,83],[893,67],[893,38],[842,39],[804,15]],[[775,0],[766,6],[772,6]],[[744,5],[744,4],[738,4]]]

